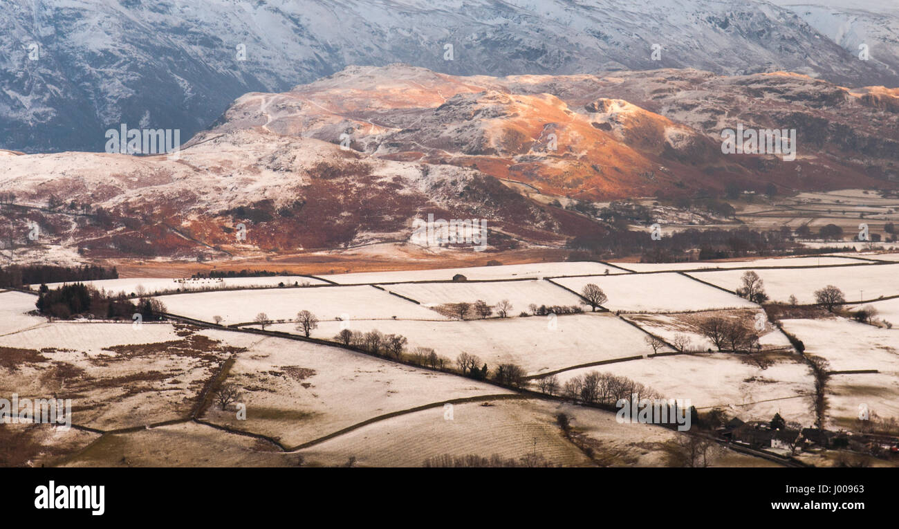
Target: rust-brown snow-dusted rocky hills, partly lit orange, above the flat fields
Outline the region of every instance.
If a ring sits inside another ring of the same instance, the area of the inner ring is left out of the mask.
[[[720,131],[738,124],[795,130],[796,158],[725,155]],[[417,252],[416,219],[431,213],[489,219],[491,250],[558,248],[614,229],[578,204],[728,184],[896,189],[897,131],[899,89],[797,74],[347,67],[239,97],[173,155],[0,150],[0,264]]]

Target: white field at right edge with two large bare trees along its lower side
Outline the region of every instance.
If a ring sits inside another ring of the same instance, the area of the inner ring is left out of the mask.
[[[730,291],[741,286],[743,270],[691,272],[689,275]],[[758,270],[771,300],[786,302],[795,295],[800,303],[814,303],[814,291],[832,284],[843,291],[847,301],[877,299],[899,294],[899,264],[864,264],[791,270]]]

